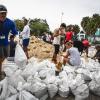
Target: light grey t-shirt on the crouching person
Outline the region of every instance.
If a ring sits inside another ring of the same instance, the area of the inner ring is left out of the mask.
[[[70,49],[68,49],[68,52],[70,54],[70,63],[73,66],[79,66],[81,63],[81,57],[78,49],[75,47],[71,47]]]

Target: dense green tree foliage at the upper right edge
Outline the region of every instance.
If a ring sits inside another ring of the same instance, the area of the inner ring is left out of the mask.
[[[86,34],[95,34],[97,28],[100,28],[100,15],[94,14],[92,17],[83,17],[81,26]]]

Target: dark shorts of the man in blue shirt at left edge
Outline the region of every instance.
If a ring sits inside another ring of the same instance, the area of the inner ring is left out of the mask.
[[[10,46],[0,46],[0,58],[6,58],[10,54]]]

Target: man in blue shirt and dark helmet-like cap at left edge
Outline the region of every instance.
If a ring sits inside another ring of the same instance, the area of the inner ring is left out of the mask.
[[[7,8],[0,4],[0,80],[4,78],[4,72],[2,72],[2,63],[6,57],[9,56],[10,47],[8,36],[9,33],[17,35],[16,26],[12,20],[7,18]],[[18,41],[18,39],[16,39]]]

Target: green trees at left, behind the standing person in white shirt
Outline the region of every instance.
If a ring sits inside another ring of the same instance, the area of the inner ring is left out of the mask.
[[[25,17],[23,17],[25,18]],[[17,26],[17,29],[19,31],[23,30],[24,23],[23,23],[23,18],[22,19],[16,19],[15,23]],[[31,34],[35,36],[42,35],[43,32],[49,32],[49,25],[47,24],[46,19],[30,19],[29,22],[30,28],[31,28]]]

